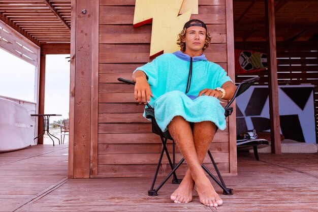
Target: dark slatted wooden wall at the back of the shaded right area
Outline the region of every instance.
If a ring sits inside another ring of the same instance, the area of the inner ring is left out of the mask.
[[[236,49],[266,52],[265,42],[235,42]],[[314,110],[316,140],[318,142],[318,44],[310,41],[277,42],[278,85],[314,85]],[[259,84],[268,85],[267,70],[250,74],[236,75],[236,82],[258,75]]]

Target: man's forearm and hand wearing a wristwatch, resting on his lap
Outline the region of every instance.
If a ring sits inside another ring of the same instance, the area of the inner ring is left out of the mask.
[[[222,84],[221,88],[225,89],[225,96],[222,99],[230,100],[233,98],[233,95],[234,95],[235,90],[236,90],[236,85],[233,82],[227,81],[224,84]],[[219,92],[219,91],[213,90],[213,89],[208,89],[208,88],[201,90],[198,97],[202,96],[203,94],[205,96],[211,96],[211,97],[215,97],[217,99],[220,99],[222,97],[222,92]]]

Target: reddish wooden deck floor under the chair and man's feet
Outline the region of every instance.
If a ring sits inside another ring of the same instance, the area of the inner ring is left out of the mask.
[[[238,176],[224,177],[234,195],[220,195],[224,204],[214,208],[197,195],[172,203],[172,184],[149,197],[150,178],[67,179],[67,151],[38,145],[0,154],[0,211],[318,211],[318,154],[239,155]]]

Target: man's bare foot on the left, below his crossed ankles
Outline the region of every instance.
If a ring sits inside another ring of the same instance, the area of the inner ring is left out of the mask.
[[[188,203],[192,201],[194,187],[195,183],[192,179],[183,179],[180,186],[170,196],[170,199],[174,203]]]

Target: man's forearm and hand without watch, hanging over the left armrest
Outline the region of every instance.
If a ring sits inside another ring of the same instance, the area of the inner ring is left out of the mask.
[[[139,104],[150,102],[150,96],[153,97],[153,95],[146,74],[143,71],[138,70],[133,74],[132,80],[136,82],[134,97]]]

